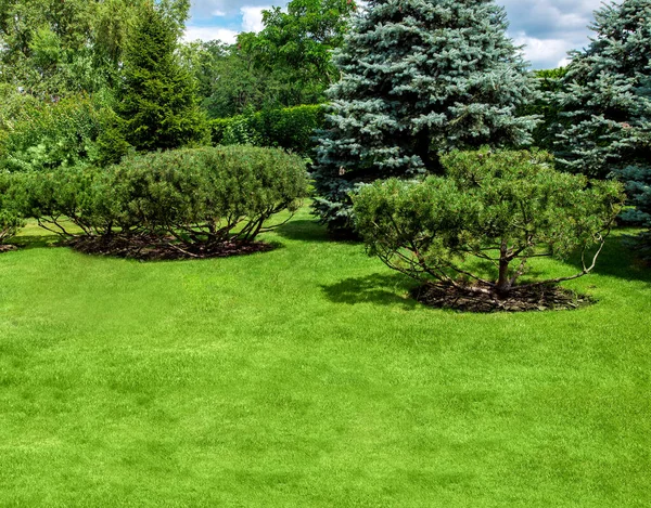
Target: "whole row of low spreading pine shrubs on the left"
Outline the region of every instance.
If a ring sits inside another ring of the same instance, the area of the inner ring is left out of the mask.
[[[271,216],[294,210],[307,186],[298,156],[252,146],[150,153],[106,169],[62,166],[8,178],[14,207],[58,234],[186,246],[250,243]]]

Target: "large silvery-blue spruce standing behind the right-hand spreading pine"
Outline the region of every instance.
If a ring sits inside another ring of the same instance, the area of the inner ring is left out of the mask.
[[[316,165],[315,208],[348,227],[348,193],[391,175],[441,173],[452,148],[525,145],[535,94],[493,0],[371,0],[334,62],[329,130]]]

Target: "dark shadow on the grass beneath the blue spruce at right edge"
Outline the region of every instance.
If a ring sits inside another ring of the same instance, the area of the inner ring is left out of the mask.
[[[591,272],[597,275],[623,278],[625,281],[641,281],[651,284],[651,266],[636,257],[636,252],[626,244],[630,242],[630,236],[623,232],[612,235],[607,239],[605,246],[597,260],[597,265]],[[590,256],[586,260],[591,263]],[[567,262],[577,270],[583,270],[580,262],[580,252],[574,253]]]

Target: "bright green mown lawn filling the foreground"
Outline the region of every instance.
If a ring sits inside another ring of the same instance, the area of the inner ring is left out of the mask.
[[[651,270],[459,314],[303,212],[271,252],[0,256],[0,506],[651,506]],[[538,265],[570,273],[574,266]]]

